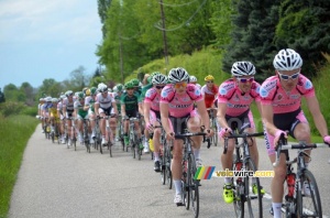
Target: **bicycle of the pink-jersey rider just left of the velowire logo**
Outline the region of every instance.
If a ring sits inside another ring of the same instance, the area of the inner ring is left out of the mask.
[[[195,179],[197,172],[196,160],[193,152],[191,137],[205,137],[205,132],[187,132],[183,134],[175,134],[176,138],[184,139],[184,156],[183,156],[183,176],[182,176],[182,189],[183,189],[183,204],[177,206],[185,206],[188,210],[191,204],[195,218],[199,215],[199,189],[200,181]]]

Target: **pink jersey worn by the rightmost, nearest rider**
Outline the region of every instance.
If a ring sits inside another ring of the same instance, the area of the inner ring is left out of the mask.
[[[260,89],[262,105],[272,105],[274,113],[287,113],[300,108],[301,97],[315,96],[311,81],[304,75],[299,75],[298,84],[292,91],[285,91],[277,76],[267,78]]]

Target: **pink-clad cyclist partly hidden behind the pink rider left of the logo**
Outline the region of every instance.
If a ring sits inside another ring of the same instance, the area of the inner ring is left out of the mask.
[[[160,100],[162,89],[167,84],[167,77],[163,74],[157,74],[152,79],[153,87],[145,94],[144,99],[144,121],[145,129],[154,132],[153,144],[154,144],[154,171],[161,172],[160,164],[160,139],[161,129],[153,129],[155,126],[161,126],[161,112],[160,112]]]

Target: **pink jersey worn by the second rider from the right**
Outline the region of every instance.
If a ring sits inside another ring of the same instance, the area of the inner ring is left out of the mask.
[[[240,116],[250,109],[253,100],[261,100],[260,87],[258,83],[253,81],[250,92],[243,94],[233,79],[228,79],[219,87],[218,102],[227,103],[226,113],[228,116]]]

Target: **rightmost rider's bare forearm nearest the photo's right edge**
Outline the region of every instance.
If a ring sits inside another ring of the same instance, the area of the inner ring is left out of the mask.
[[[316,96],[306,98],[306,102],[308,106],[308,109],[312,116],[314,123],[319,130],[320,134],[323,137],[328,135],[328,128],[327,122],[324,120],[323,115],[320,111],[319,101]]]

